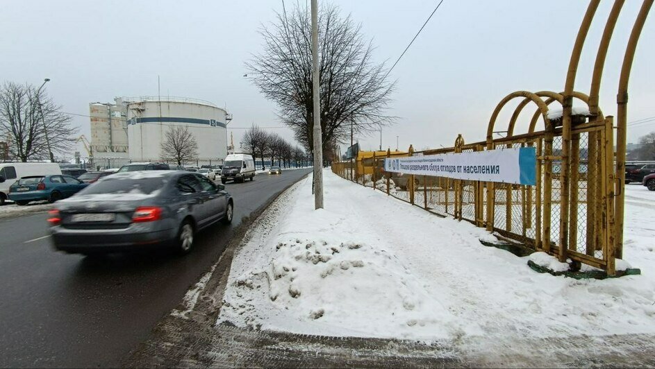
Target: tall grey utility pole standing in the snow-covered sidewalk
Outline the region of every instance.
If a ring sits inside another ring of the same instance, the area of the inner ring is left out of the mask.
[[[323,144],[318,69],[318,0],[312,0],[312,62],[314,97],[314,208],[323,209]]]

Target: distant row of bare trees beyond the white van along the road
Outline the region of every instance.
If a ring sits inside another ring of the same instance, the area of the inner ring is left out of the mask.
[[[253,125],[243,135],[242,148],[253,157],[260,159],[264,166],[265,158],[270,158],[271,165],[304,166],[310,162],[302,148],[293,146],[275,132],[265,130]]]

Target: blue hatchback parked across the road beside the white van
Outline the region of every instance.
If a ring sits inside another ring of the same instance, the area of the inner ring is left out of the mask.
[[[9,187],[9,199],[17,205],[30,201],[56,200],[73,196],[89,184],[71,175],[30,175],[23,177]]]

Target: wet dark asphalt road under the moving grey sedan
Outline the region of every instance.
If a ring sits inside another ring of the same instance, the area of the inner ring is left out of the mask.
[[[243,216],[310,169],[226,184],[232,225],[196,237],[190,255],[85,259],[51,248],[47,214],[0,221],[0,367],[115,367],[217,261]]]

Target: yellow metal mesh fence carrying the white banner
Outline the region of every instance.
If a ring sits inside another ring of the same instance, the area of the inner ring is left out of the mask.
[[[533,250],[559,255],[565,239],[565,259],[574,264],[589,264],[613,274],[614,252],[608,251],[608,212],[613,204],[606,201],[611,183],[607,174],[613,171],[606,160],[606,132],[611,132],[607,119],[586,123],[574,130],[576,141],[570,168],[565,170],[570,180],[569,199],[562,201],[563,175],[561,166],[561,128],[552,136],[547,131],[521,135],[518,139],[504,137],[489,142],[463,144],[437,150],[392,153],[384,156],[360,155],[352,162],[335,162],[334,173],[365,187],[384,191],[406,203],[422,207],[440,216],[453,216],[470,221],[499,234],[519,241]],[[461,137],[458,137],[461,138]],[[535,147],[537,150],[537,184],[505,184],[472,180],[454,180],[428,175],[404,175],[384,171],[388,157],[461,153],[506,147]],[[611,146],[609,146],[611,147]],[[569,215],[567,232],[562,232],[563,206]],[[620,250],[618,250],[620,252]]]

